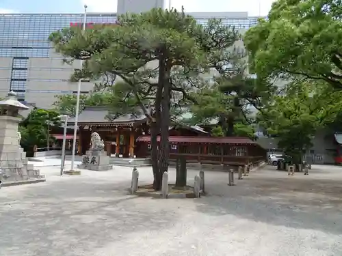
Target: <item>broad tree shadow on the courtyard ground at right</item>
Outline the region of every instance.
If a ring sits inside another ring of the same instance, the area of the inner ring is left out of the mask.
[[[196,201],[197,210],[295,229],[342,233],[341,180],[268,175],[250,173],[233,187],[211,178],[206,182],[207,196]]]

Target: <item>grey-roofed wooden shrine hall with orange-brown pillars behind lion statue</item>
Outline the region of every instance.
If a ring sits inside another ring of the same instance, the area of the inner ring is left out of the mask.
[[[148,152],[143,150],[144,143],[137,142],[138,137],[149,134],[146,116],[127,114],[109,120],[107,115],[108,109],[105,106],[86,106],[79,114],[77,153],[85,154],[90,148],[90,135],[98,132],[105,143],[107,155],[147,157]],[[70,119],[68,125],[73,124],[75,121]],[[196,137],[208,136],[209,133],[198,126],[172,126],[170,135]]]

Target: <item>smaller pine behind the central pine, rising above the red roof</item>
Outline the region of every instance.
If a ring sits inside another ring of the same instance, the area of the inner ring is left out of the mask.
[[[247,76],[244,68],[231,68],[228,74],[214,79],[214,84],[196,94],[198,105],[192,106],[194,123],[218,120],[224,136],[248,136],[254,139],[250,123],[250,108],[259,110],[263,101],[269,99],[274,91],[266,83],[259,84]]]

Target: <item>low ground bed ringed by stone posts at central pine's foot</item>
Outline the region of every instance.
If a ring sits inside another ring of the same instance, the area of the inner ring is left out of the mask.
[[[137,191],[133,193],[133,195],[138,195],[140,197],[153,197],[153,198],[163,197],[163,195],[161,194],[161,191],[153,190],[153,184],[138,186]],[[202,190],[200,190],[200,195],[204,195]],[[169,184],[167,198],[168,199],[195,198],[194,187],[184,186],[182,188],[177,188],[174,184]]]

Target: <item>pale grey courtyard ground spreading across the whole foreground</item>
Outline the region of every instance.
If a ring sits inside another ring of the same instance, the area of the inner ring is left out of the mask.
[[[233,187],[207,171],[209,195],[164,200],[128,195],[126,167],[62,177],[41,167],[47,182],[0,190],[0,255],[341,255],[342,168],[274,169]],[[139,171],[140,184],[152,180],[150,167]]]

